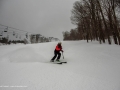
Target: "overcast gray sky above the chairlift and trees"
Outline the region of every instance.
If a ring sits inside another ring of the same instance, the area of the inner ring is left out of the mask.
[[[63,39],[76,0],[0,0],[0,24]]]

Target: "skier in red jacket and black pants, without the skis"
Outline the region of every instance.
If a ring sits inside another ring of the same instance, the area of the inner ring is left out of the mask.
[[[57,57],[56,61],[59,62],[59,59],[60,59],[60,57],[61,57],[60,51],[63,52],[62,46],[61,46],[61,42],[59,42],[59,43],[57,44],[57,46],[56,46],[56,48],[55,48],[55,50],[54,50],[54,57],[51,59],[51,62],[54,62],[54,60],[55,60],[55,58],[57,57],[57,55],[58,55],[58,57]]]

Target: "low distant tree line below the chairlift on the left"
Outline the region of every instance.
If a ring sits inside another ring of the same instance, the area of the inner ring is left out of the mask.
[[[24,38],[23,40],[9,40],[9,38],[7,37],[0,38],[0,44],[3,44],[3,45],[10,45],[10,44],[17,44],[17,43],[33,44],[33,43],[44,43],[44,42],[52,42],[52,41],[59,41],[59,39],[54,37],[47,38],[47,37],[41,36],[40,34],[30,35],[30,41],[28,37]]]

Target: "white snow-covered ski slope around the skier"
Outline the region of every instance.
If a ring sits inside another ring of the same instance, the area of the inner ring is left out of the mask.
[[[64,41],[58,65],[56,44],[0,46],[0,90],[120,90],[120,46]]]

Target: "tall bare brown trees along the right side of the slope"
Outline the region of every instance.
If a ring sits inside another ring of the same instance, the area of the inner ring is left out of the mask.
[[[77,27],[63,32],[64,40],[97,40],[120,45],[120,0],[80,0],[73,4],[71,22]]]

